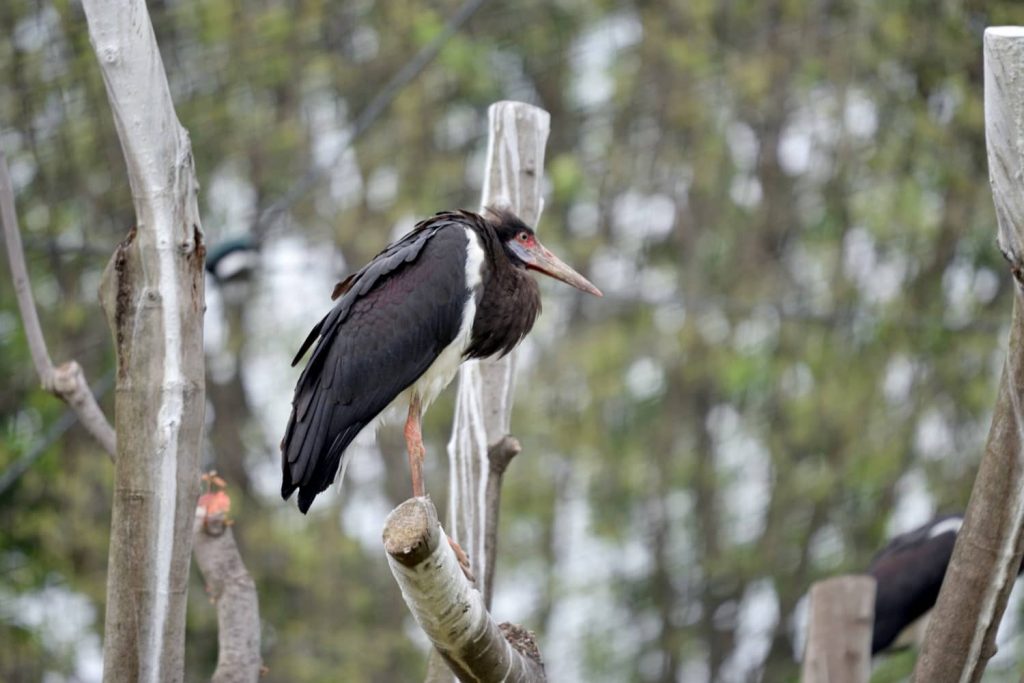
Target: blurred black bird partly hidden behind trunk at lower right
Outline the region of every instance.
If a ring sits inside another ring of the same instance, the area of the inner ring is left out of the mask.
[[[867,573],[877,582],[871,654],[908,647],[924,635],[963,524],[963,515],[936,517],[895,537],[871,560]]]

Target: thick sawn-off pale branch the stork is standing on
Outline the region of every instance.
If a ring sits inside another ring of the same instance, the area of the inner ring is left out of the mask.
[[[499,626],[466,580],[427,498],[406,501],[384,524],[391,573],[413,616],[460,681],[545,681],[532,637]]]

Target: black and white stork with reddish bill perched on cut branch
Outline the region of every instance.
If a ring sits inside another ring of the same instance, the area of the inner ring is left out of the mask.
[[[463,360],[504,355],[534,327],[541,295],[527,270],[601,296],[506,211],[438,213],[340,283],[292,361],[315,342],[281,444],[281,495],[298,488],[307,511],[344,472],[352,439],[394,407],[408,409],[413,495],[423,496],[423,411]]]

